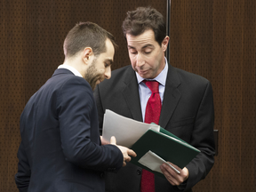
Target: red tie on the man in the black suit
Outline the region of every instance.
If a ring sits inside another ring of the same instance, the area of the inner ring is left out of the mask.
[[[155,123],[158,124],[159,117],[161,113],[161,99],[158,90],[158,82],[156,81],[143,81],[148,88],[151,90],[152,94],[148,99],[146,113],[145,113],[145,123]],[[142,170],[141,183],[140,183],[141,192],[155,192],[155,176],[154,173],[148,172],[147,170]]]

